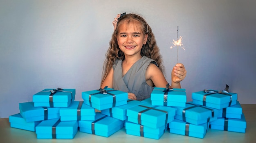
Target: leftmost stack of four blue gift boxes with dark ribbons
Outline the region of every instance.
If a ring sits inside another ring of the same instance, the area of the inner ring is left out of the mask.
[[[9,117],[10,126],[34,131],[38,139],[73,139],[78,123],[62,121],[60,111],[74,103],[75,94],[75,89],[40,91],[33,95],[33,102],[19,104],[20,113]]]

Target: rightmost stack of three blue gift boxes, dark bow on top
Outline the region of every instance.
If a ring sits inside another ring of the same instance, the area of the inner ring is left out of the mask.
[[[204,90],[192,93],[193,103],[218,110],[217,119],[210,122],[210,128],[245,133],[246,120],[237,94],[228,91]]]

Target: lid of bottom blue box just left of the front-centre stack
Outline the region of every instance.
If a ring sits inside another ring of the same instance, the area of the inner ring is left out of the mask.
[[[94,121],[78,121],[78,124],[79,127],[87,128],[90,130],[93,130],[92,125],[94,125],[94,130],[109,132],[114,130],[119,125],[124,124],[124,121],[97,112]]]

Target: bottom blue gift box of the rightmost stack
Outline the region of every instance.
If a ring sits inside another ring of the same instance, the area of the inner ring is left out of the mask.
[[[211,125],[210,127],[211,129],[245,133],[245,129],[246,129],[245,115],[242,114],[241,119],[218,117],[218,119],[215,121],[212,121],[210,125]]]

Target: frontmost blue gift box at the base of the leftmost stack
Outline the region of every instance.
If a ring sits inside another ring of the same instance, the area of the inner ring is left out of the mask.
[[[73,139],[77,131],[77,121],[50,119],[36,126],[37,139]]]

